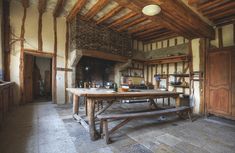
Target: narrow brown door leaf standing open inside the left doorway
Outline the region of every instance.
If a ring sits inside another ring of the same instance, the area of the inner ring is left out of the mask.
[[[34,57],[25,54],[24,58],[24,95],[25,102],[33,102],[33,65]]]

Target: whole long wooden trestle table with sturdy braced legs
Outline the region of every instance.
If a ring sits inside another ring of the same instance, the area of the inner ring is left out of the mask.
[[[79,97],[84,96],[86,100],[87,107],[87,119],[88,125],[87,130],[90,134],[91,140],[96,140],[99,138],[99,134],[95,126],[95,118],[97,115],[104,112],[113,102],[118,102],[120,100],[136,100],[136,99],[149,99],[149,101],[157,107],[153,99],[157,98],[174,98],[176,107],[179,106],[181,93],[170,92],[170,91],[160,91],[160,90],[139,90],[132,92],[112,92],[110,89],[84,89],[84,88],[67,88],[68,92],[73,94],[73,116],[78,119],[80,123],[86,124],[82,117],[79,116]],[[111,102],[110,105],[104,107],[99,112],[95,112],[95,103],[98,101],[108,101]]]

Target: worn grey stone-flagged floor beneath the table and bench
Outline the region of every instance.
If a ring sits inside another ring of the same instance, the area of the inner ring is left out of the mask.
[[[234,126],[203,118],[133,120],[106,145],[90,141],[71,111],[51,103],[17,108],[0,130],[0,153],[235,153]]]

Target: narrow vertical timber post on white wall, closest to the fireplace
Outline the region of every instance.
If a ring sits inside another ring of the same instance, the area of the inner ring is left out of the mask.
[[[69,52],[69,22],[66,22],[66,41],[65,41],[65,69],[68,68],[68,52]],[[64,74],[64,87],[65,87],[65,102],[68,103],[68,92],[66,88],[68,88],[68,72],[65,71]]]

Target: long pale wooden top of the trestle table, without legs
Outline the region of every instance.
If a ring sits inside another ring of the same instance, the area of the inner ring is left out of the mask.
[[[136,90],[132,89],[129,92],[114,92],[111,89],[101,89],[101,88],[67,88],[67,91],[78,95],[86,97],[149,97],[149,96],[169,96],[177,97],[180,92],[171,91],[161,91],[161,90]]]

